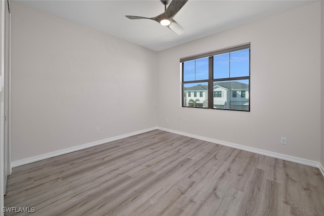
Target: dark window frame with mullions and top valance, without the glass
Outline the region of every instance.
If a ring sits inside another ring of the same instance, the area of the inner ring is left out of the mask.
[[[241,76],[241,77],[229,77],[229,78],[217,78],[214,79],[214,56],[220,55],[220,54],[225,54],[225,53],[231,53],[235,51],[240,51],[240,50],[247,50],[249,49],[249,76]],[[191,60],[197,60],[201,58],[209,58],[209,77],[208,79],[201,79],[201,80],[190,80],[190,81],[184,81],[184,62],[186,61],[191,61]],[[181,77],[181,92],[182,92],[182,101],[181,101],[181,106],[182,107],[189,107],[184,105],[184,85],[187,83],[199,83],[199,82],[207,82],[208,83],[208,107],[198,107],[198,108],[203,108],[203,109],[215,109],[214,108],[214,99],[211,99],[210,96],[214,96],[214,82],[217,81],[238,81],[238,80],[244,80],[248,79],[249,80],[249,107],[248,110],[236,110],[236,109],[221,109],[221,110],[231,110],[231,111],[243,111],[243,112],[250,112],[251,111],[251,43],[248,42],[246,44],[241,44],[238,46],[233,46],[229,48],[224,48],[212,52],[207,52],[207,53],[202,53],[198,55],[193,55],[189,57],[184,57],[180,58],[180,63],[181,63],[181,72],[182,72],[182,77]],[[246,92],[246,91],[245,91]],[[241,96],[242,97],[242,96]],[[212,97],[214,98],[214,97]],[[192,108],[192,107],[191,107]],[[194,107],[197,108],[197,107]],[[217,108],[220,109],[220,108]],[[216,110],[217,110],[216,109]]]

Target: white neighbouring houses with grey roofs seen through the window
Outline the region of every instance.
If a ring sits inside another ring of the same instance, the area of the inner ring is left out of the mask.
[[[246,83],[238,81],[215,82],[214,108],[249,110],[249,93],[249,84]],[[185,88],[184,103],[184,106],[189,107],[208,107],[207,85],[195,85]]]

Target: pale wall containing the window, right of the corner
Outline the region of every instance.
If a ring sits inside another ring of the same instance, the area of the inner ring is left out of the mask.
[[[246,42],[251,112],[181,108],[179,59]],[[158,60],[158,126],[320,160],[320,2],[161,51]]]

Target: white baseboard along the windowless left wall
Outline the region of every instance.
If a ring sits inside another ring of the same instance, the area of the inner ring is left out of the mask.
[[[97,146],[97,145],[112,142],[112,141],[115,141],[115,140],[128,138],[128,137],[135,136],[135,135],[138,135],[138,134],[143,134],[145,132],[153,131],[155,129],[157,129],[157,127],[151,127],[151,128],[143,129],[141,131],[132,132],[132,133],[129,133],[129,134],[124,134],[124,135],[111,137],[111,138],[104,139],[104,140],[99,140],[99,141],[95,141],[95,142],[91,142],[91,143],[86,143],[86,144],[83,144],[83,145],[74,146],[74,147],[71,147],[71,148],[62,149],[62,150],[58,150],[58,151],[54,151],[54,152],[50,152],[50,153],[46,153],[46,154],[42,154],[42,155],[37,155],[37,156],[34,156],[34,157],[29,157],[29,158],[22,159],[22,160],[16,160],[16,161],[11,162],[11,167],[13,168],[13,167],[21,166],[21,165],[24,165],[24,164],[27,164],[27,163],[32,163],[32,162],[35,162],[35,161],[44,160],[44,159],[47,159],[47,158],[50,158],[50,157],[55,157],[55,156],[58,156],[58,155],[62,155],[62,154],[66,154],[66,153],[86,149],[86,148],[89,148],[89,147],[92,147],[92,146]]]

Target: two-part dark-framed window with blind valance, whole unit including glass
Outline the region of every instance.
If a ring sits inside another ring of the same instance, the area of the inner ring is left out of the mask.
[[[199,101],[182,97],[183,107],[250,111],[250,43],[181,58],[180,62],[182,95],[194,92],[197,97],[199,92]]]

